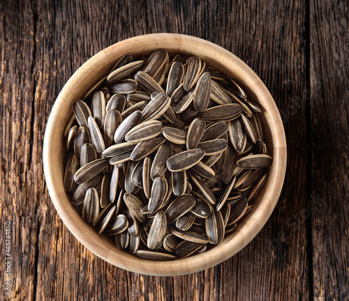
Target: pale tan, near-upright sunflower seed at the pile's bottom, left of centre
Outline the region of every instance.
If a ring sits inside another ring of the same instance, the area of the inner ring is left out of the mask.
[[[151,224],[148,240],[147,240],[147,246],[149,249],[155,249],[163,245],[163,239],[165,238],[166,234],[166,215],[163,211],[159,211],[156,213],[154,217],[154,221]]]

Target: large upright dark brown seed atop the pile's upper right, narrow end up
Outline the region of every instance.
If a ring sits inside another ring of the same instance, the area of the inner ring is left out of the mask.
[[[194,95],[193,95],[193,105],[195,109],[199,112],[206,111],[209,105],[209,95],[211,94],[211,76],[209,72],[205,72],[198,79],[196,84]]]

